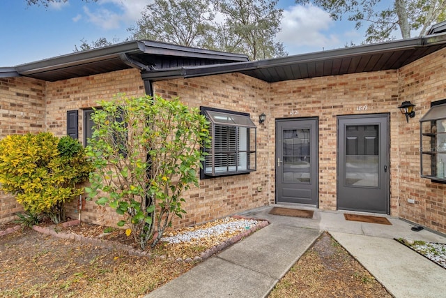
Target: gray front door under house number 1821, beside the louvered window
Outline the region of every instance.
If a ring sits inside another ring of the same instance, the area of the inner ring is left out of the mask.
[[[276,121],[276,202],[318,202],[316,118]]]

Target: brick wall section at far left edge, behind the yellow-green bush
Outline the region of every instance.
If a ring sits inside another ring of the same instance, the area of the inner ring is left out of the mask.
[[[0,139],[45,129],[45,82],[22,77],[0,78]],[[0,223],[11,221],[22,207],[0,191]]]

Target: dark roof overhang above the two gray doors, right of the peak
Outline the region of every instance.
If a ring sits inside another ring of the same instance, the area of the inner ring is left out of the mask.
[[[279,82],[398,69],[444,47],[446,47],[446,33],[440,33],[261,61],[151,70],[144,72],[142,76],[146,80],[168,80],[239,72],[265,82]]]

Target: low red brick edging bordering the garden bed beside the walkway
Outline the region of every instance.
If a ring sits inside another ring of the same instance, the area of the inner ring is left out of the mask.
[[[245,218],[243,216],[233,216],[233,218],[254,219],[254,218]],[[215,253],[219,253],[220,251],[223,251],[228,246],[235,244],[236,242],[240,241],[244,237],[247,237],[249,234],[252,234],[256,230],[264,228],[270,224],[269,221],[266,221],[263,219],[255,219],[255,220],[259,221],[259,223],[256,224],[253,228],[250,228],[249,230],[246,230],[245,232],[242,232],[241,234],[237,234],[236,236],[222,242],[221,244],[218,244],[217,246],[213,246],[212,248],[209,248],[208,250],[201,253],[201,255],[197,255],[194,258],[187,258],[185,260],[183,260],[183,258],[177,258],[175,261],[176,262],[201,262],[202,260],[206,260],[210,256],[215,255]],[[75,222],[77,222],[77,223],[75,223]],[[71,222],[67,222],[66,226],[77,225],[77,224],[79,224],[79,221],[71,221]],[[20,226],[17,226],[14,228],[20,228]],[[10,230],[10,229],[8,229],[8,230]],[[80,242],[84,242],[87,244],[93,244],[95,246],[100,246],[102,248],[121,249],[123,251],[127,251],[129,255],[134,255],[137,257],[167,259],[166,255],[153,255],[153,253],[151,253],[150,251],[141,251],[141,250],[134,248],[133,246],[130,246],[127,244],[120,244],[120,243],[117,243],[114,241],[97,239],[95,237],[86,237],[84,235],[79,235],[79,234],[67,234],[67,233],[63,233],[63,232],[58,232],[58,231],[54,230],[54,228],[51,228],[51,227],[40,227],[38,225],[34,225],[33,230],[35,230],[36,232],[43,233],[43,234],[49,234],[49,235],[57,237],[57,238],[72,239],[75,241],[80,241]],[[174,258],[170,258],[170,259],[174,260]]]

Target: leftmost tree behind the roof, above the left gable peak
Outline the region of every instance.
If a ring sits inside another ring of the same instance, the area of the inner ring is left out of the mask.
[[[210,21],[215,17],[210,0],[155,0],[148,4],[130,28],[132,38],[151,39],[175,45],[197,47],[211,30]]]

